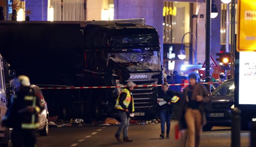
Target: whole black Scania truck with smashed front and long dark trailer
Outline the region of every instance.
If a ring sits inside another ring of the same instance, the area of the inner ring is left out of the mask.
[[[0,51],[16,75],[40,87],[163,83],[159,35],[145,19],[0,22]],[[3,37],[4,36],[4,37]],[[122,88],[42,89],[61,118],[114,116]],[[156,114],[157,87],[135,87],[135,115]]]

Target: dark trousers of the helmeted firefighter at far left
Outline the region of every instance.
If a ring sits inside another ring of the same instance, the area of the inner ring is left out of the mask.
[[[11,132],[11,143],[13,147],[35,147],[36,144],[36,130],[21,129]]]

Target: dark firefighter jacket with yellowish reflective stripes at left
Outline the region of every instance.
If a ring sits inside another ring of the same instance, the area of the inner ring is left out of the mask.
[[[3,124],[13,129],[37,129],[38,114],[43,108],[40,98],[30,87],[21,87],[11,98]]]

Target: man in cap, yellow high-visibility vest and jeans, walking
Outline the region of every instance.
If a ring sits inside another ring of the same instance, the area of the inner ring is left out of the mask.
[[[121,124],[115,133],[115,138],[118,142],[121,142],[120,133],[123,130],[123,141],[132,142],[133,140],[128,138],[128,127],[130,114],[134,112],[134,100],[132,96],[132,90],[134,89],[135,83],[128,82],[127,87],[122,90],[120,96],[117,98],[115,108],[118,110],[118,115],[121,119]]]

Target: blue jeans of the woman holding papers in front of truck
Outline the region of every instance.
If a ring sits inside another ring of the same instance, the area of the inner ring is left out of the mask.
[[[170,133],[171,127],[171,113],[168,110],[160,110],[160,117],[161,117],[161,133],[164,133],[165,130],[165,123],[166,123],[166,133]]]

